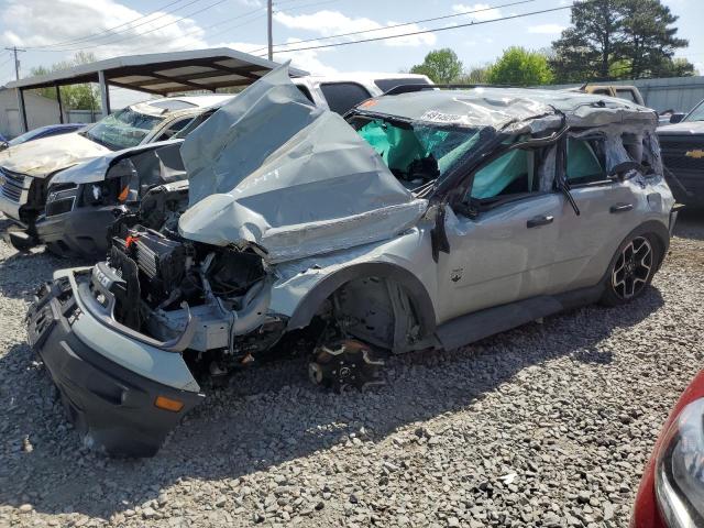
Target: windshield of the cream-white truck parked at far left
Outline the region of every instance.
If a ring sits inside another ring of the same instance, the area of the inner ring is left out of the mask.
[[[111,151],[121,151],[142,143],[146,134],[163,120],[158,116],[147,116],[125,108],[101,119],[82,134]]]

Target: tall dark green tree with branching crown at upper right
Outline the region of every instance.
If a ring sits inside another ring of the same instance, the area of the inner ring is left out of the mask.
[[[552,43],[561,82],[658,75],[672,62],[678,18],[661,0],[590,0],[572,7],[572,25]],[[626,67],[627,66],[627,67]]]

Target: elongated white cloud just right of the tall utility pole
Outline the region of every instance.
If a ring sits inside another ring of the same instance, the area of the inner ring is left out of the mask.
[[[404,33],[411,33],[415,31],[422,31],[422,28],[417,24],[407,24],[402,28],[385,29],[389,25],[396,24],[396,22],[387,22],[381,24],[374,20],[361,16],[350,18],[339,11],[318,11],[310,14],[290,15],[283,11],[274,13],[274,20],[286,28],[292,30],[311,31],[320,34],[321,36],[331,36],[342,33],[353,33],[358,31],[378,30],[363,35],[350,35],[344,37],[348,41],[354,41],[359,38],[375,38],[381,36],[400,35]],[[437,41],[436,35],[432,33],[424,33],[420,35],[399,36],[397,38],[389,38],[381,41],[387,46],[422,46],[432,45]]]

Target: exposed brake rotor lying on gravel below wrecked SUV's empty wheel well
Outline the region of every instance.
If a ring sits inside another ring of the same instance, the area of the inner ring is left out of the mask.
[[[349,339],[317,346],[308,364],[308,375],[316,385],[338,393],[350,388],[364,391],[383,384],[380,380],[382,366],[384,362],[374,358],[370,346]]]

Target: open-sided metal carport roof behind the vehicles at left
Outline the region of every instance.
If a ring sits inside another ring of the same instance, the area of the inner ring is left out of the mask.
[[[99,82],[102,72],[109,85],[147,94],[215,90],[250,85],[277,64],[229,47],[188,52],[152,53],[108,58],[8,82],[8,88],[46,88],[50,86]],[[290,68],[293,76],[307,72]]]

